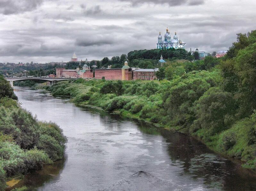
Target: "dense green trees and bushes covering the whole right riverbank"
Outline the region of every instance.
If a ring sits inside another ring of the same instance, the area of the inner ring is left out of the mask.
[[[128,57],[136,60],[147,53],[134,51]],[[153,58],[147,56],[143,58]],[[212,150],[255,169],[256,31],[238,34],[225,57],[168,61],[157,76],[160,81],[79,79],[48,90],[53,95],[69,95],[77,104],[182,129]]]

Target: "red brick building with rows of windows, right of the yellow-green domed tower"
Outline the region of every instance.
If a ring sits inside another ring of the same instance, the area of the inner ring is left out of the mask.
[[[141,79],[141,80],[155,80],[156,77],[156,69],[139,69],[133,71],[133,79]]]

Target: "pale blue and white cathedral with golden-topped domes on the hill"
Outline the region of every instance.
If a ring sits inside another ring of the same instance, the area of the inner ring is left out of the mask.
[[[163,48],[164,49],[169,49],[169,48],[185,49],[185,47],[186,47],[186,43],[184,43],[180,39],[178,39],[176,32],[175,32],[175,35],[173,36],[173,39],[171,39],[171,35],[170,35],[168,27],[167,27],[166,33],[164,35],[164,40],[162,40],[161,32],[159,32],[157,49],[163,49]]]

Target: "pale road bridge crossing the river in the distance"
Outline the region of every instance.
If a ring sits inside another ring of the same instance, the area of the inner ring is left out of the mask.
[[[77,80],[78,78],[54,78],[54,77],[6,77],[5,78],[13,87],[14,81],[21,81],[21,80],[44,80],[50,82],[50,85],[55,84],[58,81],[65,81],[65,80]]]

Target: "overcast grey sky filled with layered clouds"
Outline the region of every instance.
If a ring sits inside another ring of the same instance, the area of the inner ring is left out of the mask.
[[[156,48],[168,26],[186,49],[227,50],[256,29],[255,0],[0,0],[0,62],[101,60]]]

